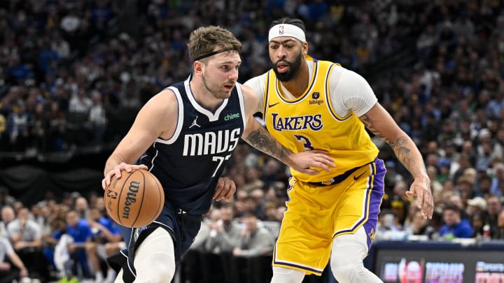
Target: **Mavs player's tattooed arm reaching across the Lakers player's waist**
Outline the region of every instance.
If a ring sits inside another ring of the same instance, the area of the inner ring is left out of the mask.
[[[244,85],[241,87],[244,93],[247,115],[246,127],[243,136],[241,136],[243,140],[261,152],[271,155],[283,162],[283,164],[304,174],[316,175],[320,173],[321,170],[329,171],[330,167],[335,167],[334,159],[328,156],[327,152],[323,150],[293,153],[283,147],[271,134],[269,134],[267,129],[253,117],[258,106],[258,97],[250,87]]]

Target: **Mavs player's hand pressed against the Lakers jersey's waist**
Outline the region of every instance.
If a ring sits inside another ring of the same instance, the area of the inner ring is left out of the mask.
[[[288,166],[308,175],[316,175],[321,170],[329,171],[330,168],[336,167],[334,159],[325,150],[309,150],[291,154]]]

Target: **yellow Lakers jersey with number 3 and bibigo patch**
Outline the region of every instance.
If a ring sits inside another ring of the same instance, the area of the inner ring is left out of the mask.
[[[293,152],[325,150],[335,168],[318,175],[290,170],[297,180],[323,182],[352,168],[370,163],[378,155],[364,124],[355,113],[339,117],[332,109],[328,78],[338,64],[314,60],[307,90],[297,99],[286,99],[273,70],[266,75],[263,117],[269,133]]]

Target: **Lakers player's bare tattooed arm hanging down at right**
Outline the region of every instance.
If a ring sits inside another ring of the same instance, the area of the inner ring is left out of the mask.
[[[367,113],[360,117],[366,128],[375,136],[384,140],[392,147],[395,157],[409,170],[414,177],[414,182],[407,196],[416,196],[421,213],[425,218],[432,218],[434,203],[430,191],[430,178],[427,175],[421,153],[413,140],[400,129],[390,114],[376,103]]]

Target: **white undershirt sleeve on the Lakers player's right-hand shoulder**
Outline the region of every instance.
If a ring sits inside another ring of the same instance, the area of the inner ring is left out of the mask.
[[[331,73],[329,89],[332,108],[340,117],[345,117],[352,111],[360,117],[378,101],[365,78],[339,66]]]

